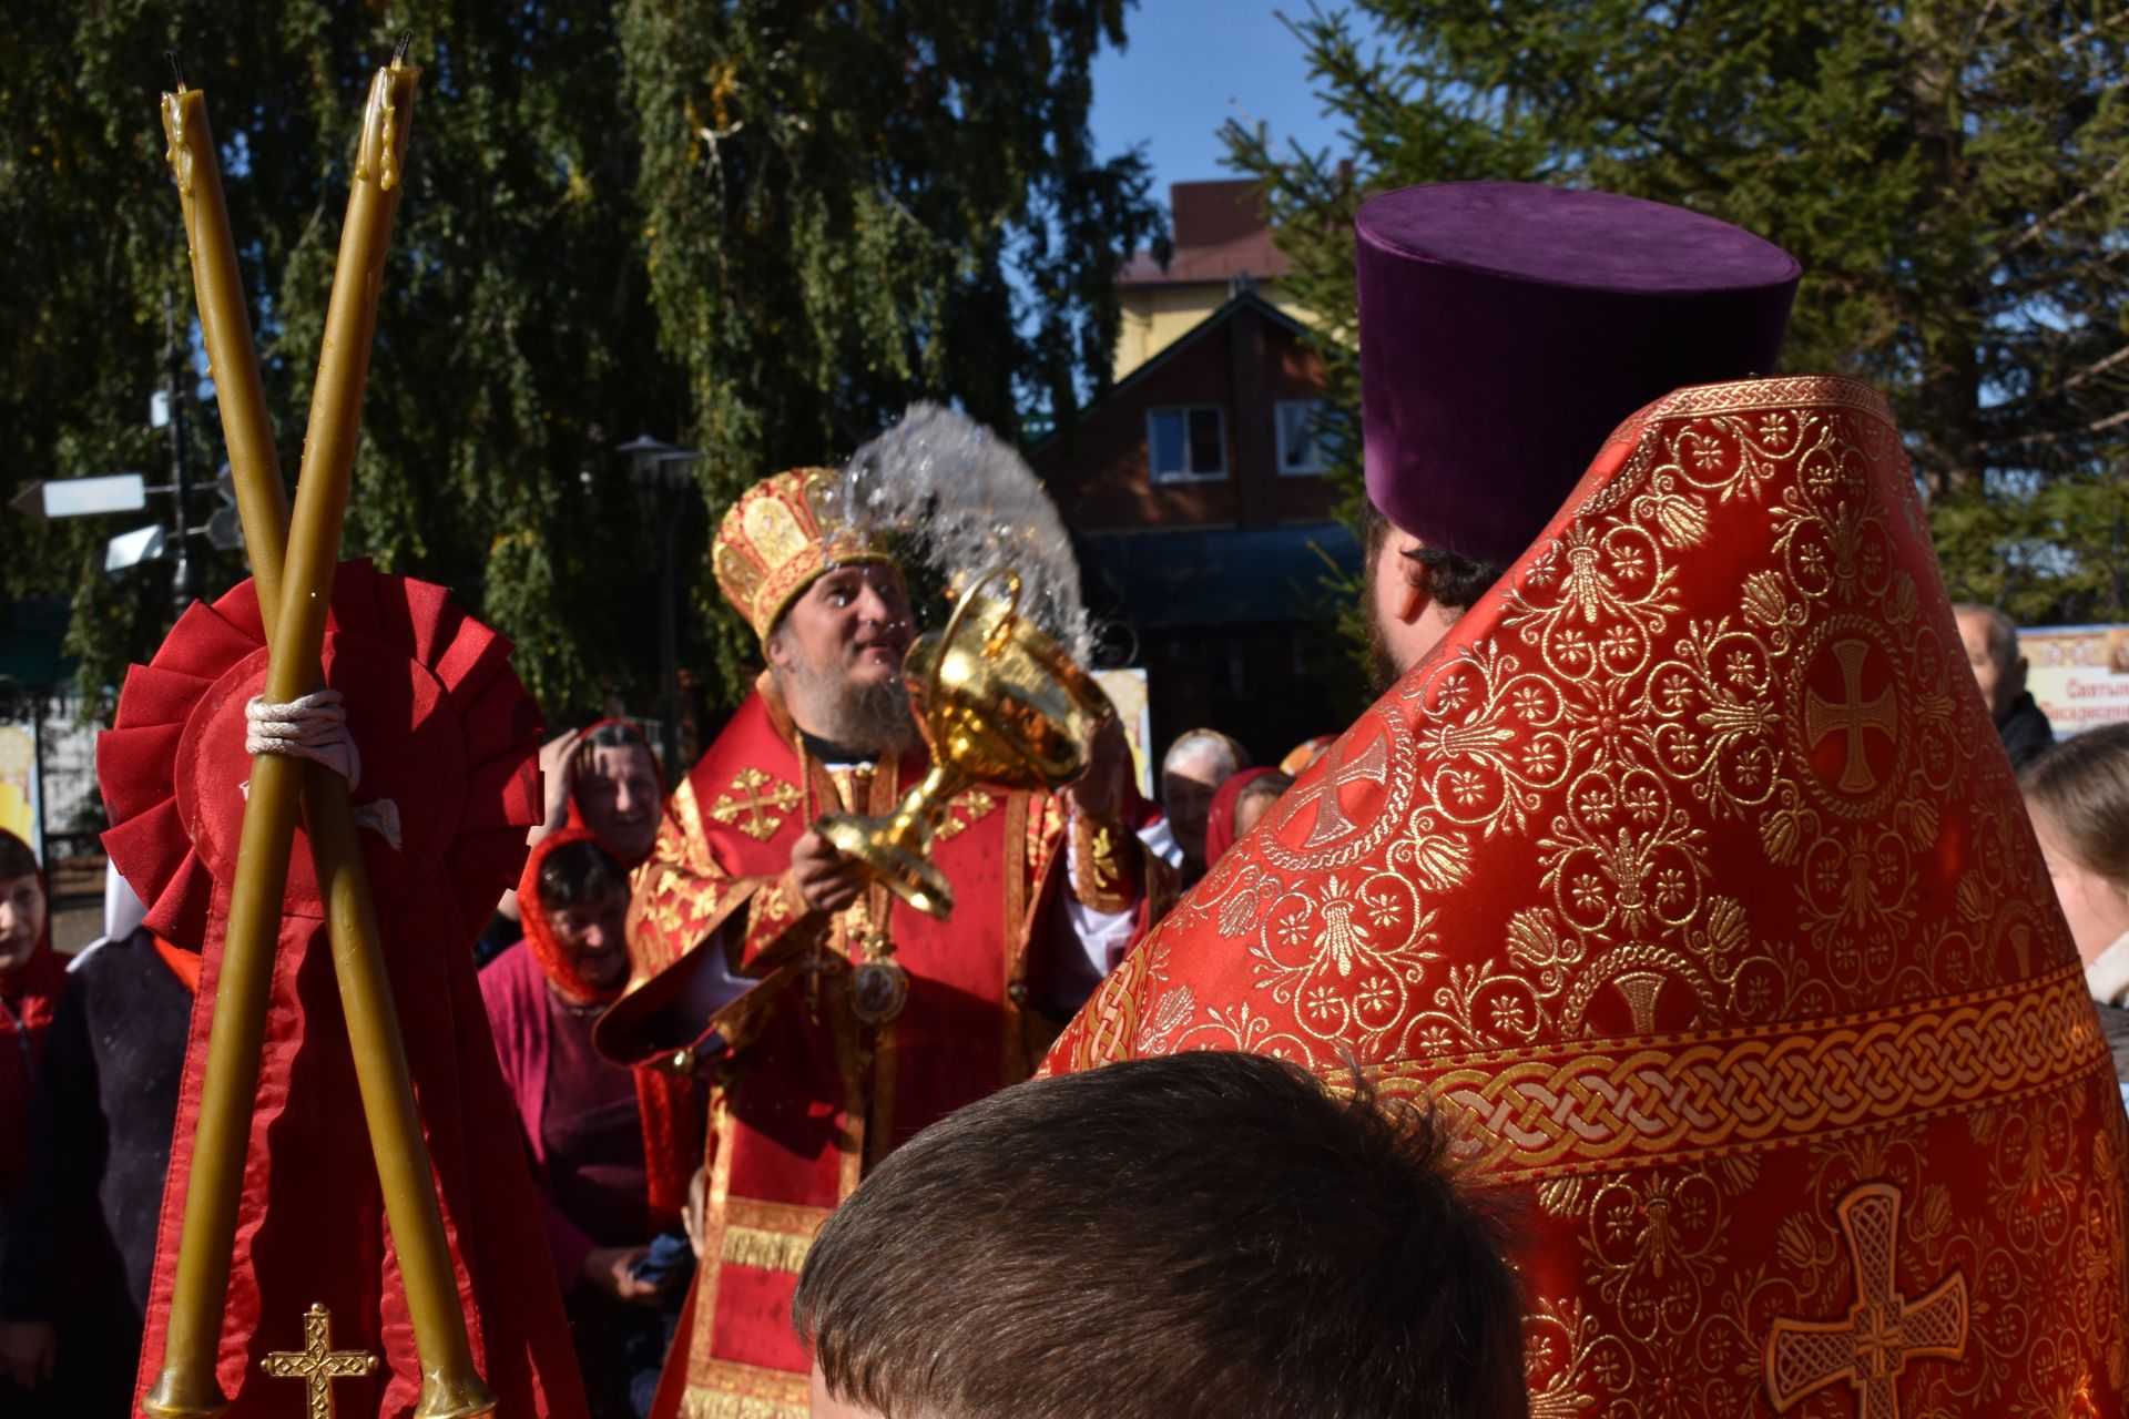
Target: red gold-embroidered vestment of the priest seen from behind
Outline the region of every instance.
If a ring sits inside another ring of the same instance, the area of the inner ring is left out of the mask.
[[[2112,1064],[1861,383],[1629,419],[1045,1068],[1177,1049],[1467,1125],[1533,1413],[2123,1413]]]

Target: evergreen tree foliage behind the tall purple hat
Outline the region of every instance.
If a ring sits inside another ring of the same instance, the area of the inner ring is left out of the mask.
[[[1360,194],[1524,179],[1673,202],[1803,262],[1788,370],[1893,400],[1957,594],[2123,617],[2129,9],[1367,0],[1292,23],[1350,155],[1228,130],[1326,313],[1356,487]],[[1373,32],[1373,34],[1369,34]],[[1350,157],[1350,162],[1346,162]],[[1590,353],[1601,357],[1599,351]]]

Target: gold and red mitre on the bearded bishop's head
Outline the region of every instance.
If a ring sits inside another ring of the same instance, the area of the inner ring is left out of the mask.
[[[792,468],[762,479],[724,515],[711,568],[724,600],[756,636],[830,566],[888,562],[886,538],[856,525],[835,504],[841,487],[828,468]]]

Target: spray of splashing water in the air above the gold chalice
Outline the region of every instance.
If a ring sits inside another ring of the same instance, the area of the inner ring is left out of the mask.
[[[956,594],[1020,572],[1020,615],[1088,664],[1092,628],[1058,508],[1018,451],[975,419],[911,404],[862,445],[826,508],[856,530],[892,530]]]

